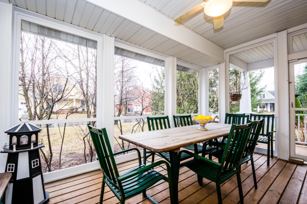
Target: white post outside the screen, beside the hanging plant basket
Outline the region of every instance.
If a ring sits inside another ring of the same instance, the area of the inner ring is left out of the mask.
[[[240,112],[250,113],[252,111],[251,110],[251,87],[249,86],[250,78],[249,78],[249,74],[247,73],[247,71],[245,71],[244,73],[242,72],[242,78],[243,79],[245,78],[246,81],[245,81],[245,85],[243,86],[242,97],[240,100]]]

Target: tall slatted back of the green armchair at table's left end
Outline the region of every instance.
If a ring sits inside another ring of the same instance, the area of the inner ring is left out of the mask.
[[[99,130],[89,124],[87,124],[87,126],[90,130],[90,134],[96,150],[96,155],[102,168],[103,176],[109,183],[118,187],[116,178],[119,177],[119,173],[116,167],[106,129],[103,128],[102,130]]]

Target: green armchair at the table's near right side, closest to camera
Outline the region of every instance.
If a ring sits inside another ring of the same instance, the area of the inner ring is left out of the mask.
[[[197,174],[198,183],[203,184],[203,177],[216,183],[216,191],[219,203],[222,203],[220,184],[237,175],[240,202],[243,204],[243,191],[239,164],[251,134],[253,123],[246,125],[232,125],[228,135],[228,140],[223,151],[221,162],[215,162],[198,154],[191,153],[187,150],[181,151],[194,157],[193,160],[183,163],[183,166],[191,169]]]

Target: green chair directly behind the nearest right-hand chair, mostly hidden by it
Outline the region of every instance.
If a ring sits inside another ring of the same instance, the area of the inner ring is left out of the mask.
[[[239,165],[239,171],[241,172],[241,165],[244,163],[247,163],[248,161],[251,161],[251,168],[253,171],[253,178],[254,178],[254,184],[255,184],[255,189],[257,189],[257,179],[256,179],[256,171],[255,171],[255,165],[254,165],[254,158],[253,154],[255,151],[255,147],[257,145],[257,140],[259,138],[260,131],[262,129],[262,125],[264,123],[264,119],[262,120],[255,120],[253,121],[253,128],[251,131],[251,135],[248,138],[246,147],[244,149],[244,153],[242,156],[242,159],[240,161]],[[226,145],[226,143],[224,143]],[[219,162],[222,159],[224,152],[224,148],[217,148],[217,149],[212,149],[211,151],[208,151],[207,153],[213,157],[218,158]],[[204,155],[203,155],[204,156]]]

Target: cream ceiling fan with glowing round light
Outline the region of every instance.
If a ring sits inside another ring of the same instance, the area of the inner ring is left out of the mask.
[[[180,23],[193,14],[199,13],[201,9],[207,16],[213,17],[214,29],[221,28],[224,25],[224,13],[226,13],[232,6],[232,2],[266,2],[268,0],[204,0],[201,4],[195,6],[188,12],[182,14],[175,19],[176,23]]]

